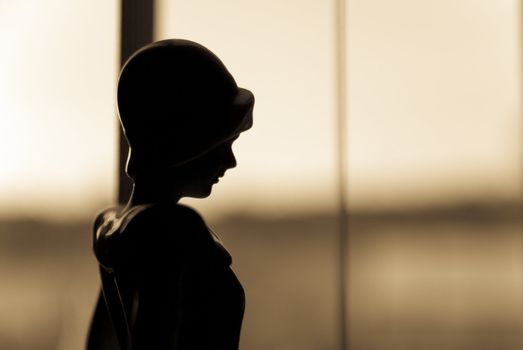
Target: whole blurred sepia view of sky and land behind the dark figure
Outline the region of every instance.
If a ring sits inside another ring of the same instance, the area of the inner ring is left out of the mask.
[[[256,95],[238,167],[186,201],[234,257],[242,348],[340,349],[340,188],[351,349],[523,348],[520,1],[347,0],[344,169],[336,15],[155,1],[155,40],[200,42]],[[116,0],[0,0],[1,349],[84,348],[91,223],[117,202],[121,18]]]

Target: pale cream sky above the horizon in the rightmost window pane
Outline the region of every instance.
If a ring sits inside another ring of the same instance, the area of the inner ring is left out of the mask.
[[[350,1],[352,204],[522,199],[519,7]]]

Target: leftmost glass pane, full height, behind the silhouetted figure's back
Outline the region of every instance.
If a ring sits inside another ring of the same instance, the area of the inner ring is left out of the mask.
[[[82,349],[115,197],[116,1],[0,3],[0,348]]]

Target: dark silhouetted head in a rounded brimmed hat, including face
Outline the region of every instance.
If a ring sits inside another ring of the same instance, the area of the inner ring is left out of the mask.
[[[233,140],[252,125],[252,93],[211,51],[187,40],[159,41],[131,56],[117,99],[130,146],[127,174],[180,197],[208,196],[236,164]]]

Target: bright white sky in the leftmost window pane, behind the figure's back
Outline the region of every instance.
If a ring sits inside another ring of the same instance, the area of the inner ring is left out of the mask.
[[[0,6],[0,211],[85,215],[114,196],[116,1]]]

